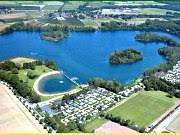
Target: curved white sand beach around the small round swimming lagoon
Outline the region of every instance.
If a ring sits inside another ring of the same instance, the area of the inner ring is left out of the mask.
[[[45,73],[45,74],[42,74],[34,83],[33,85],[33,89],[34,91],[38,94],[38,95],[41,95],[41,96],[63,96],[64,94],[72,94],[72,93],[75,93],[77,92],[78,90],[77,89],[73,89],[71,91],[67,91],[67,92],[60,92],[60,93],[56,93],[56,94],[46,94],[46,93],[42,93],[40,90],[39,90],[39,85],[40,85],[40,81],[42,79],[44,79],[45,77],[48,77],[48,76],[51,76],[51,75],[61,75],[62,74],[62,71],[52,71],[52,72],[48,72],[48,73]]]

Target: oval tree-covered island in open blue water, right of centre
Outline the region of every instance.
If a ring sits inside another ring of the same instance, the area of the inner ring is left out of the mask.
[[[109,62],[111,64],[126,64],[126,63],[133,63],[142,59],[143,56],[141,52],[130,48],[124,51],[120,51],[120,50],[114,51],[109,57]]]

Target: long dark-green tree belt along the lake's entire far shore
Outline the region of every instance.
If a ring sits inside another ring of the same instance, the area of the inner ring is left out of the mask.
[[[79,25],[47,25],[41,26],[34,23],[15,23],[9,27],[6,27],[1,34],[10,33],[13,31],[83,31],[83,32],[94,32],[97,30],[139,30],[139,31],[163,31],[180,36],[180,24],[178,21],[160,21],[160,20],[146,20],[145,23],[139,25],[129,25],[127,23],[111,21],[101,22],[101,25],[96,29],[94,27],[79,26]]]

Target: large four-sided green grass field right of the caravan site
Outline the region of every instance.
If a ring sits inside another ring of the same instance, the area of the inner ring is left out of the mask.
[[[176,99],[166,95],[160,91],[140,91],[138,95],[108,113],[146,127],[174,104]]]

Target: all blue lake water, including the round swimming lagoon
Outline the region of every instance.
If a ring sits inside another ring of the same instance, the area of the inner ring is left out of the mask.
[[[70,36],[54,43],[41,40],[37,32],[14,32],[0,36],[0,60],[25,56],[54,60],[59,69],[77,82],[86,83],[89,78],[102,77],[128,83],[142,75],[145,69],[157,66],[165,60],[157,50],[163,44],[143,44],[136,42],[135,31],[72,32]],[[170,36],[179,40],[177,37]],[[116,49],[135,48],[143,53],[144,59],[134,64],[110,65],[108,58]],[[56,93],[72,87],[67,81],[59,85],[59,79],[50,78],[44,83],[44,92]],[[67,84],[67,85],[66,85]]]

